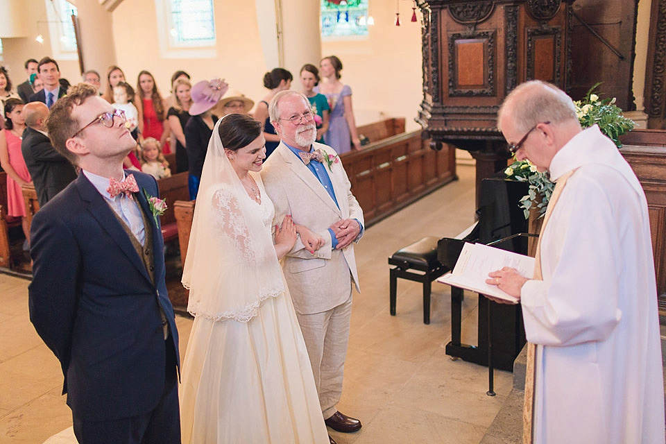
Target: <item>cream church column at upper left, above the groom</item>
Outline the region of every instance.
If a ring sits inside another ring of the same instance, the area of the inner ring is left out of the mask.
[[[78,0],[72,3],[78,10],[83,70],[98,71],[104,86],[106,69],[116,64],[112,14],[99,1]]]

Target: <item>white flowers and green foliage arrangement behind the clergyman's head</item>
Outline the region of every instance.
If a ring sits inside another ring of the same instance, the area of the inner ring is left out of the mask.
[[[633,130],[635,123],[622,115],[622,110],[615,105],[615,97],[613,99],[599,99],[599,96],[594,92],[599,85],[600,83],[597,83],[591,87],[585,99],[574,101],[576,117],[578,117],[583,129],[595,124],[599,126],[601,133],[604,133],[617,148],[620,148],[622,142],[620,142],[619,137]],[[520,199],[520,207],[524,212],[525,219],[529,218],[531,207],[535,207],[539,212],[539,217],[543,217],[550,195],[555,188],[555,184],[549,180],[547,174],[536,171],[536,167],[528,160],[522,160],[509,165],[504,170],[504,175],[509,179],[529,183],[527,196]]]

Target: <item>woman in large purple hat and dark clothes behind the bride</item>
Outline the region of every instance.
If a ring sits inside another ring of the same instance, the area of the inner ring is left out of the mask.
[[[189,108],[191,117],[185,125],[185,146],[189,163],[187,185],[191,200],[196,199],[208,142],[217,121],[217,116],[212,114],[212,108],[217,105],[228,87],[229,85],[223,80],[214,78],[210,82],[201,80],[191,89],[192,105]]]

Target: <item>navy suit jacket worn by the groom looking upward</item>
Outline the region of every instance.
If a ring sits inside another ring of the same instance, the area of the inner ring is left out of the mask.
[[[157,196],[157,182],[132,171]],[[75,417],[113,420],[155,409],[164,391],[166,347],[178,330],[164,282],[163,240],[153,224],[155,284],[99,191],[80,173],[38,211],[31,226],[30,319],[60,360],[63,393]],[[162,307],[171,330],[162,331]],[[175,369],[174,369],[175,370]]]

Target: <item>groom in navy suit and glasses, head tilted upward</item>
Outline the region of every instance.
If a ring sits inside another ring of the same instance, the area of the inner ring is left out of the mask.
[[[134,139],[90,85],[53,105],[46,128],[81,172],[33,218],[28,302],[60,360],[76,438],[180,443],[178,330],[144,196],[157,196],[157,182],[123,171]]]

